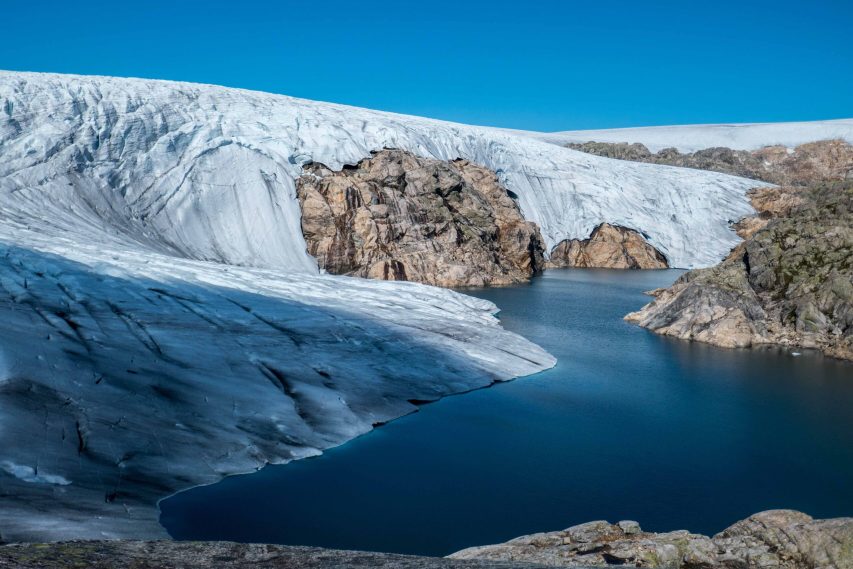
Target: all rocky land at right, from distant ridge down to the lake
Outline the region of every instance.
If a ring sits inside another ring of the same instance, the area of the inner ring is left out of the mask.
[[[782,184],[750,191],[757,214],[733,220],[745,241],[726,259],[650,291],[655,300],[627,321],[721,347],[778,344],[853,359],[853,146],[823,140],[794,149],[654,154],[642,144],[568,146]]]

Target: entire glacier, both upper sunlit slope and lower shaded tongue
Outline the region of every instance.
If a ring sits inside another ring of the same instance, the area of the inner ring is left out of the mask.
[[[294,180],[382,148],[498,173],[548,246],[717,262],[751,180],[209,85],[0,72],[0,541],[163,537],[156,503],[554,365],[498,307],[320,274]]]

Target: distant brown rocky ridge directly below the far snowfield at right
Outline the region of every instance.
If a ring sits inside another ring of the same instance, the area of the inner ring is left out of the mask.
[[[639,143],[585,142],[567,147],[606,158],[712,170],[779,185],[802,186],[853,178],[853,146],[843,140],[810,142],[792,150],[767,146],[752,151],[707,148],[692,153],[674,148],[652,153]]]

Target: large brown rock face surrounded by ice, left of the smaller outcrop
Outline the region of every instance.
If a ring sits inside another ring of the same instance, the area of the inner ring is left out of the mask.
[[[544,266],[539,228],[497,179],[465,160],[375,152],[297,180],[308,252],[334,274],[438,286],[522,282]]]

